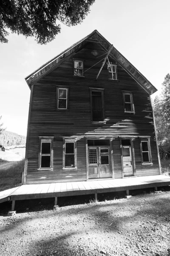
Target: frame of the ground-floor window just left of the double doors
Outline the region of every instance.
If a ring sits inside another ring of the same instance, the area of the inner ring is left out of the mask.
[[[65,143],[74,143],[74,167],[65,167]],[[63,138],[63,157],[62,157],[62,169],[63,170],[75,170],[77,169],[77,140],[76,138]]]

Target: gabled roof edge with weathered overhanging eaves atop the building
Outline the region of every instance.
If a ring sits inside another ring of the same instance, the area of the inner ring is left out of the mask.
[[[42,77],[46,76],[68,58],[74,56],[80,49],[85,47],[89,42],[96,42],[102,46],[102,48],[108,52],[111,44],[97,31],[94,30],[90,35],[87,35],[82,40],[78,41],[76,44],[72,45],[64,52],[61,52],[56,57],[52,58],[50,61],[42,65],[40,68],[35,70],[29,76],[27,76],[26,82],[31,88],[31,85],[35,84]],[[124,69],[126,72],[136,80],[138,84],[144,88],[149,94],[153,94],[157,89],[150,83],[137,69],[134,67],[127,59],[115,48],[112,47],[110,56]]]

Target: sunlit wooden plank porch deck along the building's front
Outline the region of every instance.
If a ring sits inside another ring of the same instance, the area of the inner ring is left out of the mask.
[[[88,180],[82,182],[22,185],[0,192],[0,203],[35,198],[57,198],[106,192],[129,191],[170,185],[170,176],[156,175],[123,179]]]

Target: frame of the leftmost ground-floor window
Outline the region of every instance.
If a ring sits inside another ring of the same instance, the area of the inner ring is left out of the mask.
[[[39,137],[38,170],[53,170],[53,141],[54,137]],[[42,143],[51,143],[50,154],[42,154]],[[41,167],[41,157],[50,155],[50,167]]]

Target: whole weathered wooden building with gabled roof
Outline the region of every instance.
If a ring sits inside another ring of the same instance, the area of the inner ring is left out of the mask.
[[[26,77],[23,184],[161,174],[156,88],[98,31]]]

